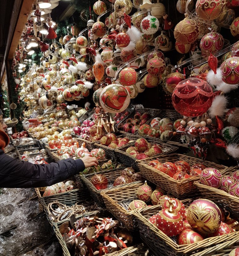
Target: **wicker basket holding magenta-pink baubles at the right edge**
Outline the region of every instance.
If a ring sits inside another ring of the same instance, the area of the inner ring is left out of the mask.
[[[230,176],[238,167],[230,167],[221,172],[224,176]],[[226,193],[225,191],[217,188],[212,188],[207,185],[201,184],[199,181],[194,182],[194,185],[199,189],[203,198],[209,199],[222,208],[226,208],[230,212],[230,216],[239,221],[239,198]]]

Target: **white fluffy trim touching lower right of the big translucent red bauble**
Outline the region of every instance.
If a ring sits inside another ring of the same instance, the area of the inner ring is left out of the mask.
[[[209,115],[211,118],[215,116],[222,117],[226,112],[226,106],[228,99],[223,95],[218,95],[212,101],[211,107],[209,108]]]

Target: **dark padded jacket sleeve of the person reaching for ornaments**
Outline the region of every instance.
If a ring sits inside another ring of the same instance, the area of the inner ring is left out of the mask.
[[[9,157],[0,150],[0,188],[38,188],[64,181],[83,171],[81,159],[33,164]]]

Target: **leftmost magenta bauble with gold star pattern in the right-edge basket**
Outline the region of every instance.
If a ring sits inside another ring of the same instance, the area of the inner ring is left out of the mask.
[[[205,168],[200,175],[200,182],[213,188],[219,188],[222,183],[222,174],[214,168]]]

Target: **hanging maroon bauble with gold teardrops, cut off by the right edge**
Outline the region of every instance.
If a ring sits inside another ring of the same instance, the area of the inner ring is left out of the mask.
[[[239,57],[233,56],[220,66],[223,81],[235,85],[239,83]]]

